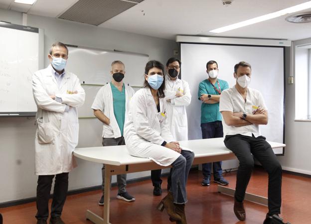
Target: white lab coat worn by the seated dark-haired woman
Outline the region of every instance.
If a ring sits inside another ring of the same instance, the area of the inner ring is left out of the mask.
[[[151,90],[138,90],[127,111],[124,137],[132,156],[150,158],[161,166],[169,166],[180,154],[161,146],[163,141],[173,142],[174,139],[168,128],[166,100],[159,98],[159,104],[158,113]]]

